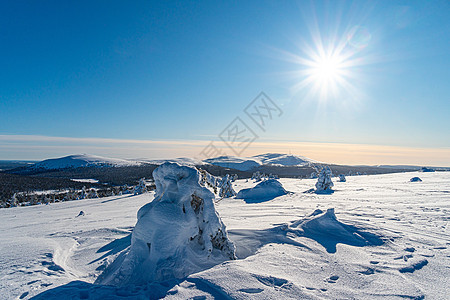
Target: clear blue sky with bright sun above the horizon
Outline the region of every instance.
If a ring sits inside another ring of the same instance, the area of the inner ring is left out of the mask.
[[[250,126],[243,110],[264,91],[283,114],[254,130],[273,147],[243,154],[373,145],[450,165],[448,1],[4,1],[0,39],[0,159],[192,156],[236,116]],[[302,59],[338,45],[343,84],[302,86]],[[67,138],[91,140],[71,151]]]

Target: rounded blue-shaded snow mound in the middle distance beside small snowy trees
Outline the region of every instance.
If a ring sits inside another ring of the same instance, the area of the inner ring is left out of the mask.
[[[236,198],[244,199],[247,203],[258,203],[286,194],[287,191],[278,180],[268,179],[258,183],[254,188],[242,189]]]

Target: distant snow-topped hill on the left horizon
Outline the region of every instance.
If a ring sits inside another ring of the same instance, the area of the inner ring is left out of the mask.
[[[88,154],[69,155],[61,158],[46,159],[32,165],[33,169],[68,169],[83,167],[126,167],[139,166],[142,162],[118,158],[108,158]]]

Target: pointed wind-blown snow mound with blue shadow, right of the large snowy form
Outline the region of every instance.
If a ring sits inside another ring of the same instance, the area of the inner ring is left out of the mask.
[[[314,239],[330,253],[336,252],[338,243],[359,247],[383,244],[379,236],[338,221],[334,208],[326,212],[316,209],[309,217],[290,227],[303,230],[304,236]]]

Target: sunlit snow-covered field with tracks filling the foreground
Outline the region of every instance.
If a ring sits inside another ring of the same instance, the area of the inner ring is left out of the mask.
[[[125,288],[92,283],[129,246],[153,192],[1,209],[0,298],[449,299],[450,172],[333,180],[333,194],[304,193],[314,179],[281,179],[290,193],[272,200],[216,199],[238,260]],[[310,216],[328,208],[337,221]]]

